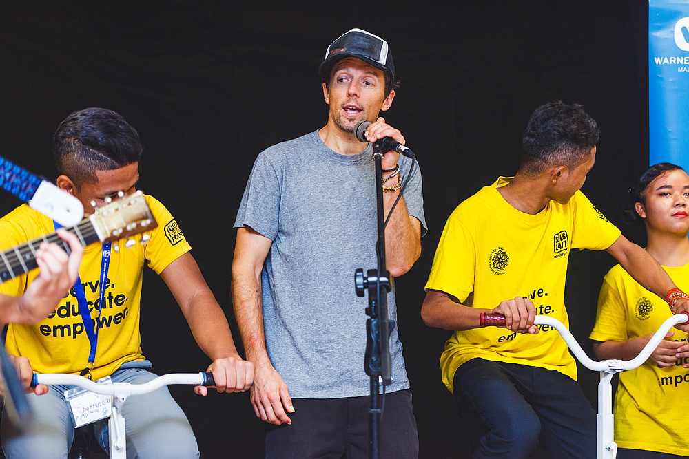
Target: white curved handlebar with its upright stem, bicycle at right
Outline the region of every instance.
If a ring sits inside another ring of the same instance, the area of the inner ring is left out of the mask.
[[[604,361],[591,360],[586,352],[579,345],[575,337],[562,324],[562,322],[552,317],[537,315],[534,323],[537,325],[551,325],[562,336],[564,341],[569,346],[572,354],[589,370],[600,372],[601,381],[598,383],[598,414],[596,416],[596,459],[615,459],[617,456],[617,443],[613,438],[614,435],[614,420],[613,417],[613,388],[610,381],[616,373],[625,372],[627,370],[634,370],[641,366],[648,360],[650,354],[653,353],[658,344],[663,341],[665,335],[670,328],[678,323],[684,323],[689,320],[687,314],[676,314],[666,321],[653,334],[644,349],[639,352],[634,359],[624,361],[617,359],[610,359]]]

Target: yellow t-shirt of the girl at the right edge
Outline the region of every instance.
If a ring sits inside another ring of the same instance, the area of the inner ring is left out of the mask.
[[[679,288],[689,289],[689,264],[663,266]],[[603,280],[595,341],[627,341],[655,333],[672,315],[668,303],[641,287],[621,266]],[[677,328],[673,341],[688,341]],[[689,363],[689,359],[684,359]],[[689,456],[686,410],[689,410],[689,370],[682,362],[659,368],[648,359],[636,370],[622,372],[615,395],[615,442],[623,448]]]

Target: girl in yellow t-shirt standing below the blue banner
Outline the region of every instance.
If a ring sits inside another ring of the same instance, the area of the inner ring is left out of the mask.
[[[655,164],[631,190],[632,214],[646,226],[646,250],[675,284],[689,290],[689,175],[675,164]],[[614,266],[603,281],[590,338],[599,359],[632,359],[661,323],[668,303]],[[619,376],[615,396],[617,458],[689,456],[689,343],[668,332],[650,359]]]

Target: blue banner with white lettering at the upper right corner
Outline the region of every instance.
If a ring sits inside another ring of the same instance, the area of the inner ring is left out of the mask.
[[[689,1],[648,2],[649,164],[689,167]]]

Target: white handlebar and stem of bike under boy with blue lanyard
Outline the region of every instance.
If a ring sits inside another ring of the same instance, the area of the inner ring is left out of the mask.
[[[33,385],[75,385],[102,395],[112,395],[112,414],[107,421],[110,436],[110,458],[125,459],[127,457],[127,441],[125,438],[125,418],[122,415],[122,405],[127,397],[153,392],[166,385],[214,385],[209,373],[173,373],[158,376],[144,384],[132,383],[95,383],[90,379],[76,374],[39,374],[34,373]]]

